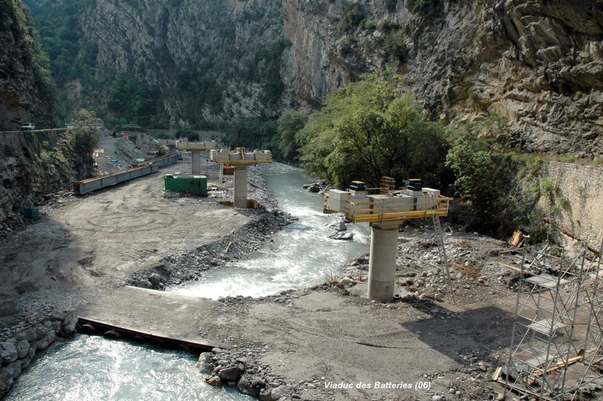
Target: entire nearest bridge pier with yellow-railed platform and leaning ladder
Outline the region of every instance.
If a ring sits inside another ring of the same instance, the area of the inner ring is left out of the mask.
[[[438,189],[423,188],[418,179],[409,180],[405,190],[394,191],[394,185],[393,178],[383,177],[380,188],[367,189],[364,182],[354,181],[346,191],[331,189],[325,194],[324,212],[345,213],[352,223],[371,226],[367,297],[377,302],[394,298],[398,230],[405,220],[434,219],[441,262],[447,270],[439,218],[448,215],[452,198],[440,195]]]

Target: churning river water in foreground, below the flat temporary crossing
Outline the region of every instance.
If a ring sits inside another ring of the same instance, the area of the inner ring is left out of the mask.
[[[38,354],[6,400],[252,400],[206,384],[195,356],[77,335]]]

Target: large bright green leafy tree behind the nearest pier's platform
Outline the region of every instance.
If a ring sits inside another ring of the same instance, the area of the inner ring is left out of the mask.
[[[339,187],[352,180],[374,186],[383,175],[440,185],[443,130],[425,121],[412,95],[400,93],[402,78],[390,72],[364,75],[333,92],[296,136],[306,171]]]

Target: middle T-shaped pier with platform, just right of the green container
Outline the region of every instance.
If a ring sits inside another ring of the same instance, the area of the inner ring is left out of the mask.
[[[272,156],[269,150],[246,151],[245,148],[236,148],[230,151],[212,150],[209,152],[209,161],[219,164],[229,164],[235,169],[234,181],[234,200],[235,207],[247,207],[247,168],[248,166],[272,163]]]

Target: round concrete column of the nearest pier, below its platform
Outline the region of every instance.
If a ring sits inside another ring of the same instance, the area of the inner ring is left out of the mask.
[[[376,302],[394,299],[396,250],[399,222],[371,225],[371,253],[368,262],[367,298]]]

